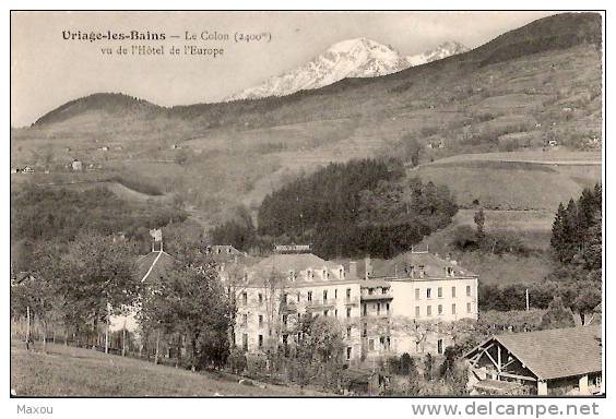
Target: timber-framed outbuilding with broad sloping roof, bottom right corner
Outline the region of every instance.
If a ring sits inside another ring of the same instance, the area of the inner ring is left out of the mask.
[[[602,349],[601,327],[588,325],[493,336],[464,357],[475,394],[520,384],[540,396],[593,395],[602,392]]]

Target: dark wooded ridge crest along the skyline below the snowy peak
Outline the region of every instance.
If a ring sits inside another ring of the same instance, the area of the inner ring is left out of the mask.
[[[384,76],[347,77],[320,88],[298,91],[282,97],[240,99],[226,103],[205,103],[171,107],[162,107],[150,104],[146,100],[133,99],[141,104],[152,105],[146,105],[143,109],[137,107],[137,109],[141,109],[144,117],[152,118],[153,116],[162,116],[180,120],[209,120],[206,124],[212,127],[213,123],[218,123],[213,121],[220,120],[221,115],[236,115],[238,111],[250,115],[260,113],[263,108],[271,111],[284,105],[306,100],[311,96],[340,95],[350,88],[363,88],[372,83],[386,82],[388,84],[399,84],[401,81],[412,83],[412,80],[415,77],[425,77],[446,67],[454,67],[458,68],[459,71],[471,72],[490,63],[504,62],[542,51],[570,48],[580,44],[591,44],[595,45],[596,48],[601,48],[601,26],[602,16],[599,13],[556,14],[533,21],[518,29],[499,35],[495,39],[466,52],[431,61],[426,64],[411,67]],[[96,110],[96,104],[99,104],[99,100],[95,100],[93,97],[96,98],[102,95],[111,94],[96,93],[71,100],[42,116],[33,124],[33,128],[61,122],[78,115],[80,109],[86,109],[88,111]],[[132,96],[129,95],[125,96],[132,98]],[[92,101],[92,104],[85,105],[83,104],[84,101]],[[71,108],[70,105],[79,106],[72,106],[71,111],[66,111],[68,108]],[[134,110],[134,108],[131,109]],[[100,106],[100,110],[109,111],[109,108]],[[114,110],[111,113],[122,115],[122,111]],[[242,124],[244,123],[245,122],[242,122]]]

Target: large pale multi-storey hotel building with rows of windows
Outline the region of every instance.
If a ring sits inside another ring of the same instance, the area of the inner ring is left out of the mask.
[[[236,346],[249,354],[292,347],[303,316],[323,315],[339,322],[351,362],[442,354],[452,344],[447,325],[477,318],[477,276],[455,261],[411,252],[358,265],[282,253],[247,267],[236,284]]]

